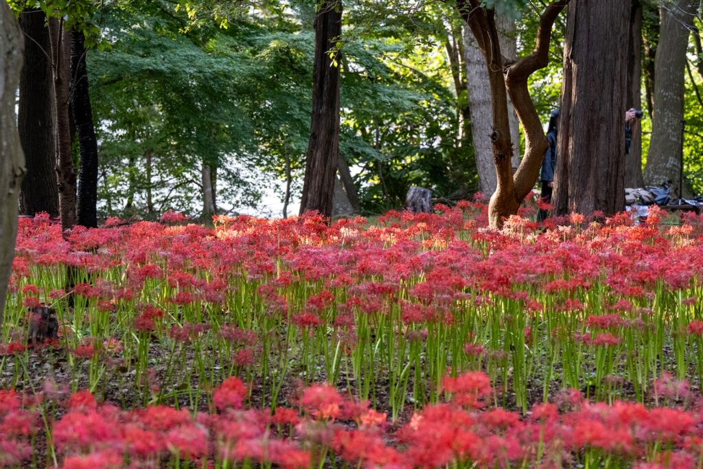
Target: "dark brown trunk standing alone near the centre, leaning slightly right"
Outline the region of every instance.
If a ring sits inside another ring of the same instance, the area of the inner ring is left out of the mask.
[[[342,1],[324,0],[315,16],[315,63],[310,141],[305,160],[300,214],[332,216],[340,140],[340,67],[329,51],[342,33]]]

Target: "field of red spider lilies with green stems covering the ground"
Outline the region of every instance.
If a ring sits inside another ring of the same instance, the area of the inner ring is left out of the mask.
[[[701,468],[703,218],[531,210],[20,219],[0,466]]]

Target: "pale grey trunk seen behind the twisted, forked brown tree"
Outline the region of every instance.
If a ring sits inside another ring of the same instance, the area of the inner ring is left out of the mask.
[[[499,31],[499,41],[503,57],[515,60],[517,57],[517,43],[515,37],[515,23],[496,15],[496,26]],[[470,125],[473,145],[475,150],[476,168],[479,175],[479,188],[486,195],[496,191],[498,179],[494,165],[493,132],[491,119],[491,84],[486,72],[486,58],[470,31],[465,34],[466,54],[466,82],[468,86],[468,108],[470,111]],[[512,168],[520,164],[520,129],[508,99],[508,122],[510,123],[510,141],[512,143]]]

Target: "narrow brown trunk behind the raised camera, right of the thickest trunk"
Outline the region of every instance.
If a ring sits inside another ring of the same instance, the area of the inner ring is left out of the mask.
[[[630,36],[627,46],[627,96],[626,109],[642,109],[642,3],[632,0],[630,10]],[[625,187],[642,187],[642,126],[631,126],[630,153],[625,156]]]

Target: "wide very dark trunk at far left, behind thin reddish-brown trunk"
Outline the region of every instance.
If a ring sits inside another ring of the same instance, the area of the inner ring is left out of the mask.
[[[23,11],[20,27],[25,34],[25,60],[17,122],[27,163],[20,210],[25,215],[47,212],[58,217],[49,28],[46,16],[38,9]]]

